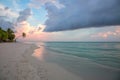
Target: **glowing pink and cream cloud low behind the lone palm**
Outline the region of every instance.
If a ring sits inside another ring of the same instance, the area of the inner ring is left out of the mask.
[[[18,23],[15,27],[16,29],[16,38],[23,40],[22,33],[26,33],[26,38],[24,40],[46,40],[46,33],[42,32],[45,28],[45,25],[38,25],[37,27],[31,26],[27,21],[22,21]]]

